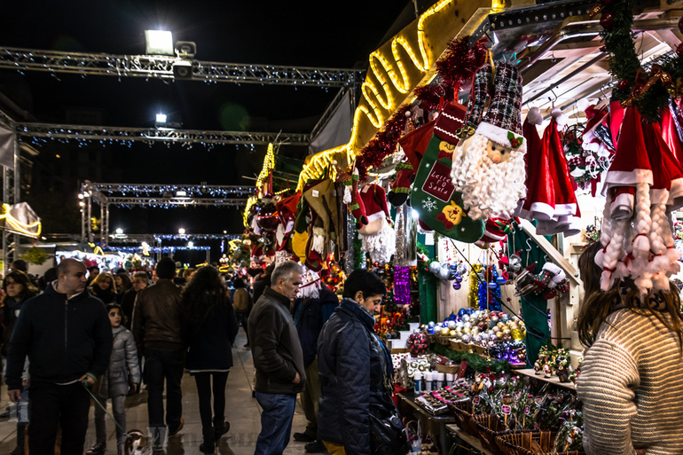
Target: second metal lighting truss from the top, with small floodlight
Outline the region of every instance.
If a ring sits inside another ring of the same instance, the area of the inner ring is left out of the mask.
[[[177,144],[254,144],[308,146],[310,135],[300,133],[252,133],[245,131],[210,131],[203,129],[125,128],[51,123],[20,123],[20,137],[45,137],[76,140],[138,141]]]

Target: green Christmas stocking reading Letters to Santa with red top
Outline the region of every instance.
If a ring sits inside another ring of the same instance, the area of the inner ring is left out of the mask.
[[[451,158],[458,143],[455,132],[462,125],[465,109],[447,104],[434,125],[411,193],[411,207],[420,221],[451,239],[474,243],[483,236],[483,221],[468,216],[460,192],[451,183]]]

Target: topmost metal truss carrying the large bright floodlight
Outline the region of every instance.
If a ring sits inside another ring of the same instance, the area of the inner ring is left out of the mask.
[[[174,80],[173,67],[187,63],[192,64],[192,79],[204,82],[347,87],[360,85],[365,75],[365,71],[358,69],[219,63],[160,55],[109,55],[0,47],[0,68],[20,72]]]

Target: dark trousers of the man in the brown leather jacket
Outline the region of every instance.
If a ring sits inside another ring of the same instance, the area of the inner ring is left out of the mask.
[[[145,382],[147,383],[147,412],[149,426],[164,427],[163,388],[166,380],[166,425],[169,431],[180,426],[183,415],[183,392],[180,381],[185,365],[184,349],[145,348]]]

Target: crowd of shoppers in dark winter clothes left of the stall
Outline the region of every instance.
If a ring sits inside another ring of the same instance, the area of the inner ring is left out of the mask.
[[[153,449],[161,450],[184,427],[185,371],[199,396],[200,451],[214,453],[230,429],[225,389],[240,326],[254,359],[253,396],[263,409],[256,454],[287,447],[297,394],[307,426],[294,439],[306,442],[306,451],[343,453],[347,444],[370,453],[369,429],[362,430],[369,422],[356,412],[387,397],[389,354],[373,332],[384,284],[356,271],[340,303],[325,286],[318,297],[297,298],[301,281],[294,262],[252,278],[213,266],[180,277],[170,258],[133,273],[64,259],[38,279],[25,263],[12,263],[1,312],[4,379],[19,417],[12,454],[24,453],[29,424],[31,453],[53,453],[56,443],[61,453],[82,453],[93,401],[96,441],[87,454],[104,453],[108,400],[122,453],[125,397],[143,388]],[[381,372],[371,373],[371,365],[383,365]]]

